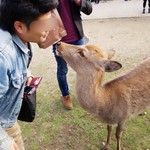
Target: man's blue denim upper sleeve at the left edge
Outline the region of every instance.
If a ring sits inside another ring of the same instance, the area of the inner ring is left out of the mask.
[[[5,95],[9,86],[9,72],[8,72],[9,64],[3,55],[0,53],[0,98]]]

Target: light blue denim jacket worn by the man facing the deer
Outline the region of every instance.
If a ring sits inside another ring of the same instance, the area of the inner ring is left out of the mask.
[[[9,150],[5,132],[17,121],[27,78],[29,49],[17,35],[0,29],[0,150]]]

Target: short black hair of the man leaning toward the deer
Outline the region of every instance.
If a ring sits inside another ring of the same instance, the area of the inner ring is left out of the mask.
[[[15,33],[14,22],[30,23],[42,14],[57,8],[58,0],[0,0],[0,27]]]

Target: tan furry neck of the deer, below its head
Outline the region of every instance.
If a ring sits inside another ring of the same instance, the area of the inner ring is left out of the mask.
[[[101,78],[95,78],[94,75],[88,77],[77,75],[76,80],[76,95],[79,103],[84,109],[94,114],[96,114],[97,109],[100,107],[98,106],[98,101],[103,95]]]

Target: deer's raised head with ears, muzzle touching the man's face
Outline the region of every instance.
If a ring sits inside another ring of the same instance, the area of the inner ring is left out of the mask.
[[[120,63],[110,60],[115,54],[114,50],[106,53],[94,45],[77,46],[63,42],[58,44],[57,50],[59,56],[80,74],[112,72],[122,67]]]

